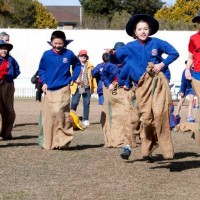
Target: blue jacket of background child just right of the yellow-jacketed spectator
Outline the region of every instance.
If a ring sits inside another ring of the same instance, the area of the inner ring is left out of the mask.
[[[97,94],[103,94],[103,83],[101,80],[102,70],[106,63],[102,62],[98,64],[92,71],[92,77],[97,81]]]

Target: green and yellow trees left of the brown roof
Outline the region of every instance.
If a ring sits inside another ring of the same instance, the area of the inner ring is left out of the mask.
[[[37,0],[0,0],[1,28],[56,28],[58,22]]]

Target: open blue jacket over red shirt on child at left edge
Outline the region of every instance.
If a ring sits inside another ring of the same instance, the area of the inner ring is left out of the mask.
[[[0,64],[2,63],[2,57],[0,57]],[[19,65],[17,61],[10,55],[8,55],[8,74],[6,75],[6,82],[12,83],[15,78],[20,74]]]

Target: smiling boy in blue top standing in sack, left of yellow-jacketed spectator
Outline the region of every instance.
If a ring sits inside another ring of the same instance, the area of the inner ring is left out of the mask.
[[[70,84],[78,78],[81,64],[67,45],[63,31],[51,35],[52,49],[43,53],[38,74],[45,93],[42,102],[43,139],[39,143],[44,149],[67,149],[74,137],[70,122]],[[70,73],[72,65],[73,74]]]

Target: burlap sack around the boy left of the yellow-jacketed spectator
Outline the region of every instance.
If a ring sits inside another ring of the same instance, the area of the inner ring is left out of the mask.
[[[40,145],[44,149],[66,149],[69,146],[74,137],[69,112],[69,86],[46,92],[42,102],[43,130],[40,130],[40,132],[43,131],[43,140],[40,140]]]

